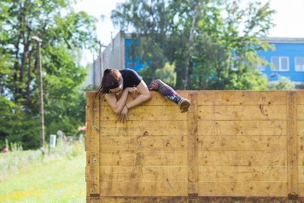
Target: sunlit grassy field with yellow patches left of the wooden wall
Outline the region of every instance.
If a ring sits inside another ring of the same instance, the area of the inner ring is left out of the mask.
[[[31,165],[0,182],[0,202],[86,202],[85,153]]]

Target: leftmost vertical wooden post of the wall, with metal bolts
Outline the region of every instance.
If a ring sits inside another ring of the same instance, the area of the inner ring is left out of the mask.
[[[90,196],[99,197],[99,98],[90,92]]]

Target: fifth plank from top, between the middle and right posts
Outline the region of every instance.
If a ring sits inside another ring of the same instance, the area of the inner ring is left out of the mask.
[[[285,166],[286,151],[199,151],[199,165]]]

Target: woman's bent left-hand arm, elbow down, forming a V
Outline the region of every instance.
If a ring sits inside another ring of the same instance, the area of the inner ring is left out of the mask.
[[[127,87],[123,91],[122,96],[120,97],[120,99],[118,99],[118,100],[116,99],[115,94],[105,94],[104,95],[104,97],[105,97],[107,103],[109,104],[109,106],[111,107],[111,109],[118,115],[121,113],[121,111],[123,110],[123,108],[126,104],[129,89],[130,89],[130,87]]]

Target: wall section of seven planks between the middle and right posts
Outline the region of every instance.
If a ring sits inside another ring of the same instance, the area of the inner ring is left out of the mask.
[[[285,91],[199,91],[199,196],[287,196]]]

